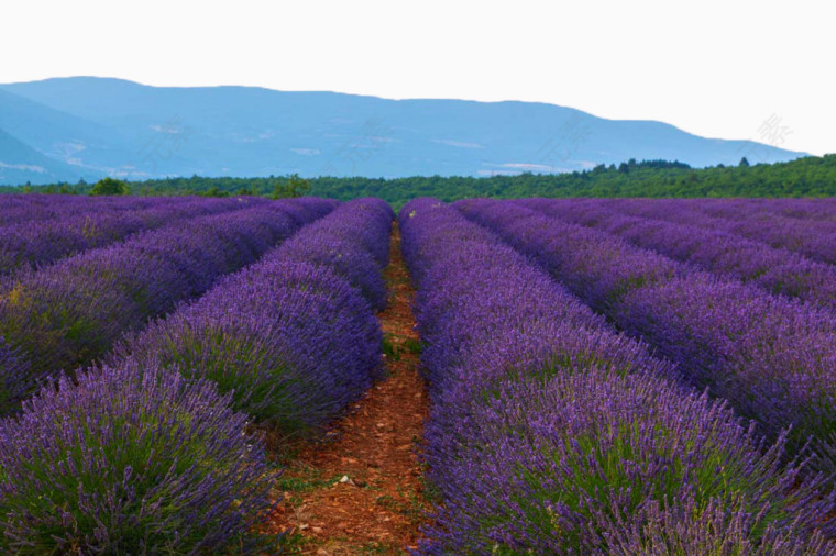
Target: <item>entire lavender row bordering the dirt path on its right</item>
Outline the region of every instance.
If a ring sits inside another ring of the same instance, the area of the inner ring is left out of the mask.
[[[430,381],[426,554],[836,554],[828,498],[495,235],[400,214]]]

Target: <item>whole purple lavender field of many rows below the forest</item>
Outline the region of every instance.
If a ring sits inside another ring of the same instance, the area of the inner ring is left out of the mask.
[[[0,200],[0,554],[339,554],[276,515],[409,346],[402,256],[389,552],[836,554],[832,199],[45,194]]]

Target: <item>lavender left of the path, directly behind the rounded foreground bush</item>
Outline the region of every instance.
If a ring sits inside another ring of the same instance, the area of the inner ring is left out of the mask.
[[[392,218],[383,201],[342,204],[122,343],[117,357],[158,358],[210,379],[233,392],[235,409],[284,434],[315,430],[381,377],[382,333],[370,302],[385,292],[385,260],[372,253],[388,246]],[[369,298],[352,286],[360,274],[362,283],[380,282]]]

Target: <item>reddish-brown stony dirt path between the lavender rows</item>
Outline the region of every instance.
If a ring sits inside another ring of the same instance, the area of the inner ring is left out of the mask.
[[[392,235],[385,269],[389,307],[378,316],[388,377],[372,387],[323,442],[304,446],[279,489],[285,498],[272,519],[288,530],[292,554],[403,554],[415,546],[428,509],[417,459],[427,392],[417,372],[414,291]]]

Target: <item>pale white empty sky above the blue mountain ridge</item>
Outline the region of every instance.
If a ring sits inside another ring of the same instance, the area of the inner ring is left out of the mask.
[[[835,21],[827,0],[4,0],[0,82],[542,101],[823,154]]]

